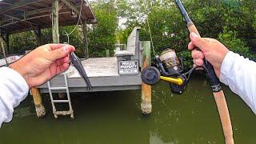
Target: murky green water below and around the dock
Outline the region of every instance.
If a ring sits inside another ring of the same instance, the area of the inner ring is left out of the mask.
[[[254,144],[256,116],[237,95],[224,87],[234,140]],[[0,143],[224,143],[214,98],[204,79],[192,79],[182,95],[171,94],[165,82],[153,87],[153,112],[140,113],[140,90],[72,94],[75,119],[54,119],[45,96],[45,118],[34,114],[32,99],[15,110],[0,129]]]

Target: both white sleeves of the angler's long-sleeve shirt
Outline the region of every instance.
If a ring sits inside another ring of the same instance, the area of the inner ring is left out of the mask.
[[[256,62],[229,52],[222,62],[220,81],[230,86],[256,114]],[[14,107],[22,102],[29,91],[25,79],[15,70],[0,68],[0,127],[10,122]]]

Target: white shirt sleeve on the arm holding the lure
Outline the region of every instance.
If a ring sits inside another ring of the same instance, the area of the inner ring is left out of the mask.
[[[29,91],[25,79],[9,67],[0,68],[0,127],[2,122],[10,122],[14,107],[22,102]]]

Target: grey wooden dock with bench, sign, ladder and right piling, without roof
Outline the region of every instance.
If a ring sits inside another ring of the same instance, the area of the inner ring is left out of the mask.
[[[74,92],[142,89],[142,113],[151,113],[151,87],[142,83],[141,78],[142,69],[151,63],[150,42],[139,41],[139,30],[140,27],[134,28],[127,39],[126,50],[115,50],[115,57],[82,60],[82,66],[90,79],[92,90],[87,89],[86,82],[74,66],[70,66],[65,73],[59,74],[38,87],[41,93],[50,93],[55,118],[58,118],[58,114],[70,114],[70,117],[74,118],[74,111],[70,102],[70,93]],[[66,93],[68,99],[54,100],[52,93],[61,95]],[[54,102],[69,102],[70,110],[57,111]]]

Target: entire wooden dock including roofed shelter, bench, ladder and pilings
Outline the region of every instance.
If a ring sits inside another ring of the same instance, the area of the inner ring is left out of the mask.
[[[8,6],[6,6],[8,4]],[[34,7],[35,10],[31,10]],[[78,8],[81,8],[81,13]],[[87,90],[86,82],[78,74],[78,71],[70,66],[63,74],[59,74],[42,86],[31,88],[30,92],[34,98],[34,106],[38,117],[43,117],[46,110],[42,103],[41,93],[50,93],[54,117],[58,114],[70,114],[74,118],[71,106],[70,93],[94,92],[112,90],[138,90],[142,89],[142,113],[150,114],[151,89],[142,83],[141,71],[150,65],[150,42],[139,40],[140,27],[135,27],[126,43],[126,50],[116,49],[114,57],[89,58],[87,24],[94,24],[97,19],[87,0],[52,0],[52,1],[8,1],[2,0],[0,14],[5,21],[0,22],[0,42],[6,42],[6,53],[10,52],[10,34],[34,30],[38,40],[38,46],[42,45],[42,29],[52,28],[53,42],[59,43],[59,26],[70,26],[77,24],[81,18],[83,34],[83,48],[85,58],[82,60],[86,73],[93,86]],[[80,15],[79,15],[80,14]],[[79,15],[78,18],[74,18]],[[2,46],[3,47],[3,46]],[[3,51],[5,49],[3,48]],[[54,99],[52,93],[58,93],[60,98],[66,93],[68,99]],[[70,110],[57,111],[54,103],[68,102]]]

